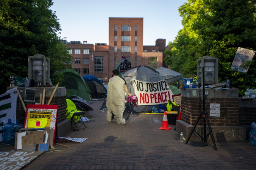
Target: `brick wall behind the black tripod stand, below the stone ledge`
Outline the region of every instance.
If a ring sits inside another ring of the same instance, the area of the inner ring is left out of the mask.
[[[238,90],[207,89],[205,109],[212,126],[238,126],[239,125],[239,98]],[[204,111],[202,89],[182,90],[181,119],[189,125],[195,125],[199,115]],[[220,104],[220,117],[210,116],[210,104]],[[203,116],[201,117],[203,119]],[[201,123],[201,124],[200,124]],[[199,121],[198,125],[203,125]]]

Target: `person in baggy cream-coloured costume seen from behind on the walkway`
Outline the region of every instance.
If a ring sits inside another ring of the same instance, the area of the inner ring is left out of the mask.
[[[129,96],[132,96],[132,94],[130,94],[128,91],[125,79],[119,77],[119,70],[114,69],[112,72],[114,76],[110,78],[108,82],[108,95],[106,101],[106,106],[108,107],[107,121],[111,122],[112,114],[114,114],[117,119],[116,123],[124,125],[126,124],[126,121],[123,118],[125,109],[125,92]]]

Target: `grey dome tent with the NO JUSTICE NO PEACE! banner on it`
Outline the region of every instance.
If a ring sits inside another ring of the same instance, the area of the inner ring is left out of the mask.
[[[135,66],[124,71],[129,92],[138,97],[136,112],[151,112],[153,106],[172,100],[172,91],[160,74],[149,66]]]

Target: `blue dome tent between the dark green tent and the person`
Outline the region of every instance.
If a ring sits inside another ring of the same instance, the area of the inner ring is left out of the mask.
[[[107,90],[98,78],[90,74],[83,76],[83,78],[90,88],[92,98],[106,98]]]

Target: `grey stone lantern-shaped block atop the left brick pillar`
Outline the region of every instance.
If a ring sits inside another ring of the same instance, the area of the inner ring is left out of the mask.
[[[28,79],[35,84],[50,84],[50,59],[41,54],[28,57]]]

